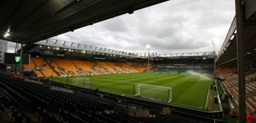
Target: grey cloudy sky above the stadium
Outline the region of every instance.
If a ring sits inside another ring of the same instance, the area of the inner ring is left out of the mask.
[[[234,0],[170,0],[53,39],[126,52],[216,52],[235,15]],[[8,44],[12,51],[14,45]]]

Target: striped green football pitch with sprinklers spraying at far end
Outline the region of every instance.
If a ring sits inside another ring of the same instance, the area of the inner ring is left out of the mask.
[[[60,83],[67,83],[67,79],[69,85],[89,88],[89,76],[53,78],[54,81]],[[210,75],[199,74],[108,74],[91,76],[91,89],[99,88],[100,91],[133,97],[134,85],[146,84],[168,87],[171,88],[171,102],[169,104],[205,110],[211,82]]]

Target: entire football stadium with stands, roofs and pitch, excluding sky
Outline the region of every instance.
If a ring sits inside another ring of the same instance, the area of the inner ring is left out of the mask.
[[[249,123],[254,0],[235,0],[218,53],[214,41],[213,52],[158,54],[150,45],[138,53],[53,38],[166,1],[0,1],[0,39],[16,43],[14,53],[0,52],[0,122]]]

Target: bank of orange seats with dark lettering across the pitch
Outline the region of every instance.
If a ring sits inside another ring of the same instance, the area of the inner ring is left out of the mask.
[[[23,65],[25,69],[32,69],[38,77],[67,76],[67,71],[72,71],[69,75],[81,76],[92,74],[110,73],[133,73],[139,72],[137,69],[122,62],[114,61],[84,61],[76,59],[43,59],[32,57],[29,65]],[[61,68],[61,69],[60,69]]]

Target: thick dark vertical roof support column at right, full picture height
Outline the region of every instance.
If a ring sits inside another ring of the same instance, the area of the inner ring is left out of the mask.
[[[245,108],[245,67],[244,67],[244,12],[242,0],[235,0],[237,16],[237,69],[238,69],[238,103],[239,103],[239,123],[246,122]]]

